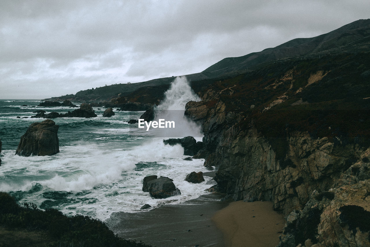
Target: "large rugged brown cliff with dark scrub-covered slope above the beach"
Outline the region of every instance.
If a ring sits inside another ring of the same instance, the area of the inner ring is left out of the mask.
[[[202,125],[218,190],[288,215],[280,246],[369,244],[370,229],[346,208],[370,213],[369,55],[267,64],[186,105]]]

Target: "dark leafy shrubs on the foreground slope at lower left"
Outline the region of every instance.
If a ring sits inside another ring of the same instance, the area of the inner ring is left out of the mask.
[[[27,203],[20,207],[14,198],[5,192],[0,192],[0,231],[1,229],[10,232],[42,233],[47,241],[50,241],[44,243],[44,246],[149,247],[118,238],[104,223],[88,216],[67,217],[58,210],[42,211],[37,209],[36,205]],[[8,243],[3,244],[5,245],[0,245],[18,246],[17,239],[8,240]]]

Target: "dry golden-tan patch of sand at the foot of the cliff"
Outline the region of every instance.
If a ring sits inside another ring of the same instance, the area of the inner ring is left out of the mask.
[[[222,231],[228,247],[275,247],[285,220],[272,208],[272,202],[231,202],[212,220]]]

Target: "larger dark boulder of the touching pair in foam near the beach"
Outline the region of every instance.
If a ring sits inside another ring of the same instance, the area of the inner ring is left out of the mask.
[[[175,187],[171,178],[160,177],[145,182],[147,183],[149,194],[154,198],[163,199],[174,195],[181,195],[180,190]]]

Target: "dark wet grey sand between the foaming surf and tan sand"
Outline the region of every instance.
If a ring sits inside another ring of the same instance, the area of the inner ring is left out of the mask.
[[[223,247],[222,233],[211,220],[230,202],[203,195],[186,205],[164,205],[139,213],[114,213],[105,222],[119,237],[157,247]]]

